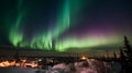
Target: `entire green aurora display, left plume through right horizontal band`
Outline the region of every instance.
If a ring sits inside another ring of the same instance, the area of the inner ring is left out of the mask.
[[[70,17],[74,21],[77,21],[76,15],[82,8],[84,3],[81,0],[65,0],[63,7],[59,8],[59,12],[57,15],[57,22],[54,28],[48,28],[45,33],[36,34],[32,37],[31,41],[24,40],[24,34],[20,28],[20,25],[23,22],[25,16],[22,9],[22,0],[19,0],[18,4],[18,16],[14,22],[14,26],[10,28],[9,40],[15,47],[29,47],[34,49],[42,50],[52,50],[53,40],[55,40],[55,50],[56,51],[67,51],[68,48],[92,48],[97,46],[103,46],[109,44],[118,44],[119,38],[113,36],[106,37],[84,37],[78,39],[76,36],[66,37],[65,39],[59,39],[59,35],[67,31],[70,25]],[[75,16],[75,17],[73,17]]]

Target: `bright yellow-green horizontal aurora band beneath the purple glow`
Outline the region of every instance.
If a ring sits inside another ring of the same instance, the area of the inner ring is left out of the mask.
[[[98,35],[97,35],[98,36]],[[70,48],[87,48],[88,50],[91,50],[90,48],[99,47],[99,46],[107,46],[107,45],[114,45],[119,44],[120,38],[116,36],[103,36],[103,37],[97,37],[97,36],[86,36],[81,39],[74,37],[67,37],[64,40],[57,41],[56,49],[58,51],[67,51]]]

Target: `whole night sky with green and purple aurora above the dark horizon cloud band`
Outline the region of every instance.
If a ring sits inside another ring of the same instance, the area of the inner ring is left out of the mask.
[[[0,0],[1,46],[119,50],[131,32],[131,0]]]

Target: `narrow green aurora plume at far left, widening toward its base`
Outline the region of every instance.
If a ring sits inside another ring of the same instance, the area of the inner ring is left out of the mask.
[[[22,20],[23,20],[23,16],[24,16],[24,13],[23,11],[21,10],[22,8],[22,0],[19,0],[19,3],[18,3],[18,16],[15,17],[15,22],[13,23],[14,26],[12,26],[10,28],[10,33],[9,33],[9,40],[11,41],[11,44],[13,46],[18,46],[22,39],[23,39],[23,33],[20,31],[19,26],[21,25],[22,23]]]

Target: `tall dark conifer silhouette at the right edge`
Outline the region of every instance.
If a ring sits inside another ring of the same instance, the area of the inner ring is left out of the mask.
[[[124,36],[124,46],[120,48],[121,73],[132,72],[132,47],[127,36]]]

